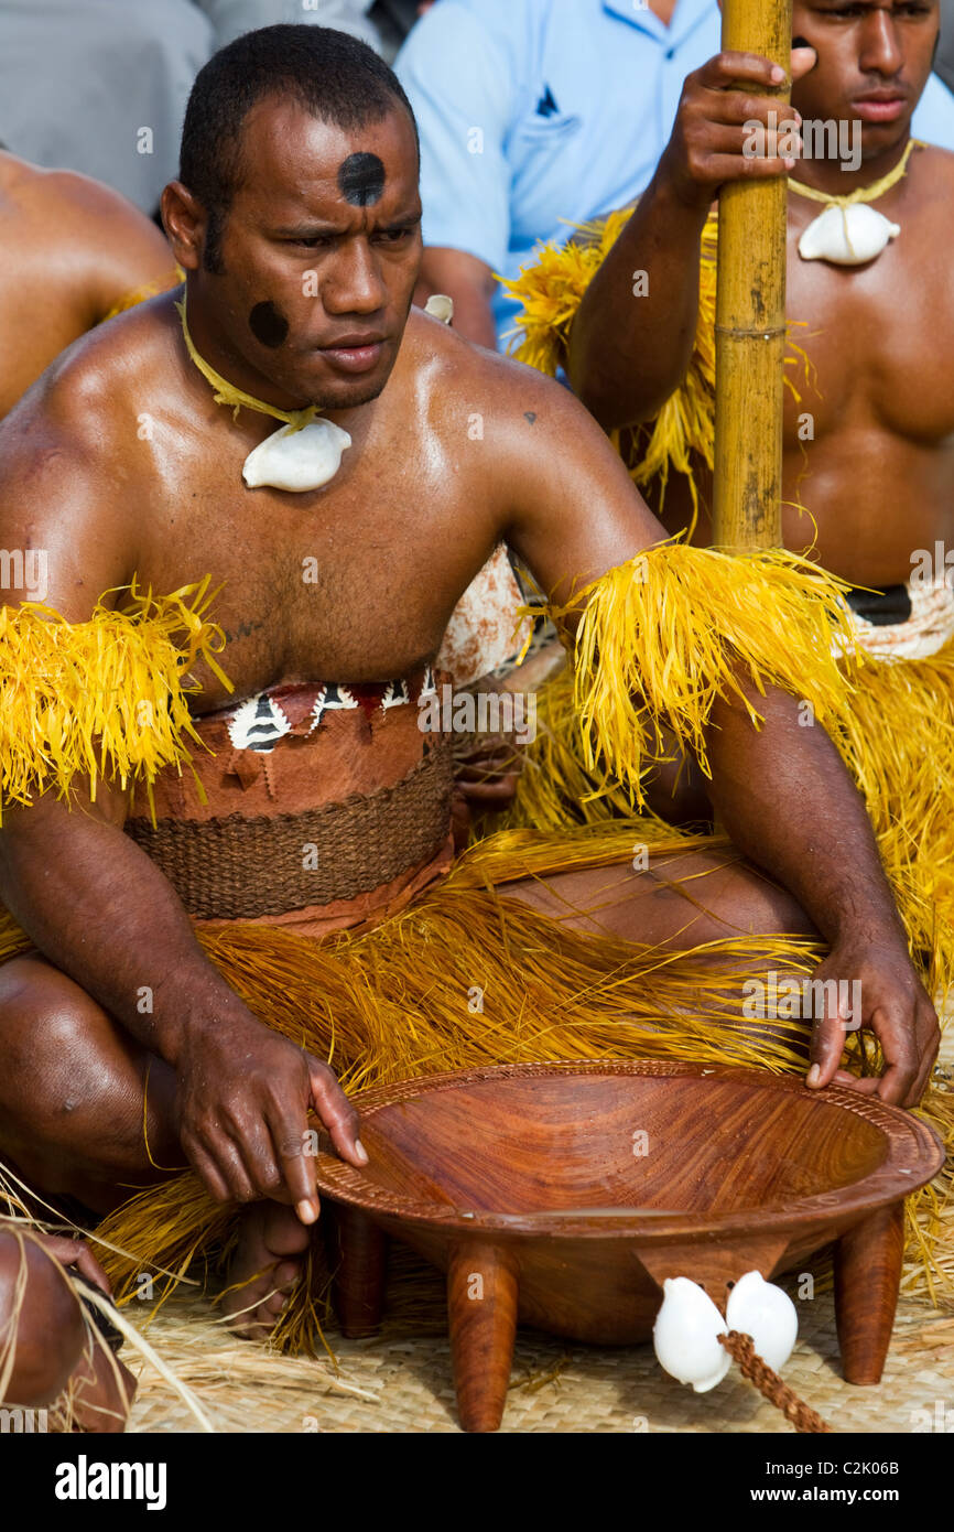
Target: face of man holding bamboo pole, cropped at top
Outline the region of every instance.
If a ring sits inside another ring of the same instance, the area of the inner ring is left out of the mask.
[[[939,0],[795,0],[793,35],[818,63],[792,90],[815,121],[861,121],[862,153],[900,142],[931,74]]]

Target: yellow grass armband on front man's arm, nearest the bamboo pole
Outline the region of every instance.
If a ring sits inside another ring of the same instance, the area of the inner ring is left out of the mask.
[[[842,584],[786,548],[746,555],[663,542],[609,570],[567,608],[586,602],[576,639],[576,708],[586,768],[600,792],[622,783],[643,803],[640,777],[672,758],[662,726],[709,772],[706,726],[717,699],[779,686],[805,720],[836,732],[851,692],[854,637]],[[841,660],[838,659],[841,654]]]

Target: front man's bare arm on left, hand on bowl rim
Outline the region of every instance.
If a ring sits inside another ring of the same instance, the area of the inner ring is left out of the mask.
[[[132,578],[135,518],[87,453],[95,401],[51,389],[0,427],[0,544],[44,548],[46,601],[72,622]],[[100,427],[109,429],[109,427]],[[109,447],[109,443],[106,443]],[[9,604],[29,591],[5,593]],[[317,1216],[303,1157],[312,1105],[354,1164],[357,1117],[331,1069],[265,1028],[202,953],[172,885],[123,833],[124,795],[100,784],[90,804],[41,798],[5,809],[0,899],[58,968],[176,1069],[182,1147],[213,1196],[283,1189]],[[138,994],[153,991],[142,1014]]]

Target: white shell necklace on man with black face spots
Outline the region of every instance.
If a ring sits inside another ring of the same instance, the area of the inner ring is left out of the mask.
[[[331,420],[315,418],[317,404],[306,409],[277,409],[265,400],[254,398],[224,378],[205,357],[196,351],[196,345],[188,332],[185,319],[185,299],[176,303],[182,320],[182,339],[185,349],[198,366],[207,383],[211,383],[216,404],[230,404],[233,417],[237,418],[240,409],[254,409],[260,415],[273,415],[285,421],[245,458],[242,478],[248,489],[260,489],[263,484],[273,489],[286,489],[300,493],[308,489],[320,489],[334,478],[341,466],[341,453],[351,446],[351,437]]]

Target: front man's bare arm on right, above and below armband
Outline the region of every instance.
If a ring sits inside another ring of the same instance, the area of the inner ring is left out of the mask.
[[[507,414],[495,415],[493,472],[511,507],[507,541],[564,604],[658,542],[663,529],[573,398],[522,369],[501,385]],[[830,944],[819,976],[861,980],[864,1025],[888,1068],[880,1082],[853,1086],[916,1102],[937,1052],[937,1017],[911,967],[864,801],[824,729],[799,725],[798,699],[750,696],[766,720],[758,731],[735,702],[712,711],[712,801],[740,849],[798,898]],[[813,1039],[812,1085],[836,1077],[842,1045],[841,1020],[828,1014]]]

